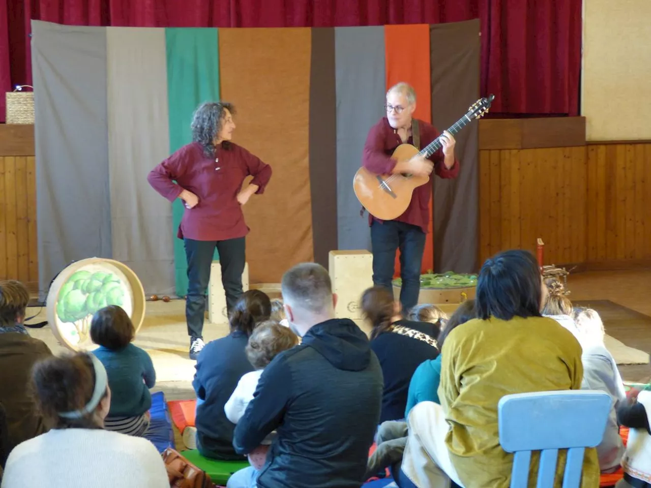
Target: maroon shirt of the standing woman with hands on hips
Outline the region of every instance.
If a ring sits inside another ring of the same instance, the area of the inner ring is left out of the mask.
[[[249,233],[236,198],[249,175],[253,175],[251,184],[259,187],[255,193],[263,193],[271,167],[232,142],[218,146],[214,157],[206,156],[199,142],[192,142],[154,168],[147,181],[170,202],[184,189],[199,197],[197,206],[183,213],[180,239],[223,241]]]

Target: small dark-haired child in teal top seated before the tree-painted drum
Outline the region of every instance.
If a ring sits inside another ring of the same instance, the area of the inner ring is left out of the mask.
[[[90,322],[90,338],[100,346],[93,353],[104,364],[111,391],[104,428],[142,437],[149,428],[149,388],[156,384],[156,372],[149,355],[131,344],[134,336],[131,319],[117,305],[98,310]]]

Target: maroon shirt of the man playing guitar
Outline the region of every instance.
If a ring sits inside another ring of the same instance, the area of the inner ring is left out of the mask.
[[[418,121],[421,131],[421,149],[427,144],[439,137],[439,131],[428,122]],[[412,137],[407,141],[413,144]],[[397,131],[389,125],[386,117],[380,119],[370,131],[368,131],[367,141],[364,144],[362,156],[362,165],[375,174],[389,174],[396,166],[396,161],[391,159],[391,154],[402,144],[402,139]],[[443,160],[443,150],[439,149],[429,158],[434,163],[434,173],[440,178],[456,178],[459,174],[459,161],[455,158],[454,165],[450,169],[445,167]],[[411,202],[407,210],[400,217],[394,219],[398,222],[404,222],[417,225],[422,228],[422,232],[428,232],[430,223],[430,197],[432,197],[432,185],[426,183],[414,189],[411,195]],[[381,222],[372,215],[368,215],[368,224],[373,221]]]

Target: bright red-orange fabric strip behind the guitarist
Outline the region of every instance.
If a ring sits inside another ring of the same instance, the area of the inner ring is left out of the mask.
[[[430,26],[428,24],[385,25],[384,46],[387,89],[400,81],[409,83],[416,90],[414,116],[432,122]],[[422,254],[422,271],[434,269],[432,215],[430,198],[430,225]],[[399,275],[400,251],[396,253],[396,276]]]

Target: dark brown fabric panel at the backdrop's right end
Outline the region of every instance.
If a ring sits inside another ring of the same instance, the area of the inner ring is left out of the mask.
[[[432,122],[449,128],[479,98],[479,20],[430,27]],[[456,135],[461,170],[434,180],[434,269],[474,273],[478,245],[478,124]]]

